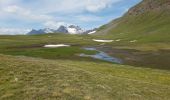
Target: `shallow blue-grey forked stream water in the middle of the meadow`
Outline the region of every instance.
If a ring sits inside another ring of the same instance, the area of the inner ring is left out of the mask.
[[[80,54],[81,57],[91,57],[91,58],[94,58],[94,59],[100,59],[100,60],[118,63],[118,64],[123,63],[123,61],[121,59],[109,56],[107,53],[102,52],[100,50],[97,50],[96,48],[83,48],[83,49],[85,49],[85,50],[95,50],[95,51],[98,51],[99,53],[97,53],[95,55],[87,55],[87,54],[82,53],[82,54]]]

